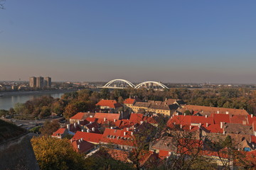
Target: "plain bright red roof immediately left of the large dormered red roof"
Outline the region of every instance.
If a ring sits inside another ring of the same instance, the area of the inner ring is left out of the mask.
[[[100,139],[102,138],[102,134],[91,133],[91,132],[76,132],[72,137],[73,140],[83,139],[87,142],[100,143]]]

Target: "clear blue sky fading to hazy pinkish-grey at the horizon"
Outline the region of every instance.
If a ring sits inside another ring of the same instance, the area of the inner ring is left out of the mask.
[[[256,1],[6,0],[0,80],[256,83]]]

